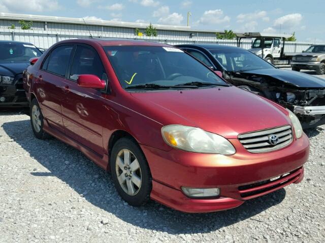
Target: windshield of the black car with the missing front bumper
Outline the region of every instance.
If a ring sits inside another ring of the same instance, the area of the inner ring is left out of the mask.
[[[274,68],[270,63],[245,50],[209,50],[227,71],[250,71]]]

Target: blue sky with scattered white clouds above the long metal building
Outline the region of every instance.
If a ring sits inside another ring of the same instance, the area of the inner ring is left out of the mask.
[[[325,42],[324,0],[0,0],[0,12],[186,25],[197,29],[296,32],[298,41]]]

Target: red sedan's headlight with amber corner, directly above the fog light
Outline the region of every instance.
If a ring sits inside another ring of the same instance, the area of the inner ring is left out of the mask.
[[[167,144],[184,151],[223,155],[231,155],[236,152],[228,140],[200,128],[169,125],[161,128],[161,134]]]

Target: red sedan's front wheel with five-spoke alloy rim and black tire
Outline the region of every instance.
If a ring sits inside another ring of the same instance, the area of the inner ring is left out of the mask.
[[[115,188],[126,203],[142,206],[149,201],[152,189],[150,169],[135,140],[121,138],[114,144],[110,167]]]

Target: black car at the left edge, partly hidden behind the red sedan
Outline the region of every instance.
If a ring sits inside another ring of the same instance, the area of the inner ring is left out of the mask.
[[[0,41],[0,108],[28,106],[22,72],[42,52],[25,42]]]

